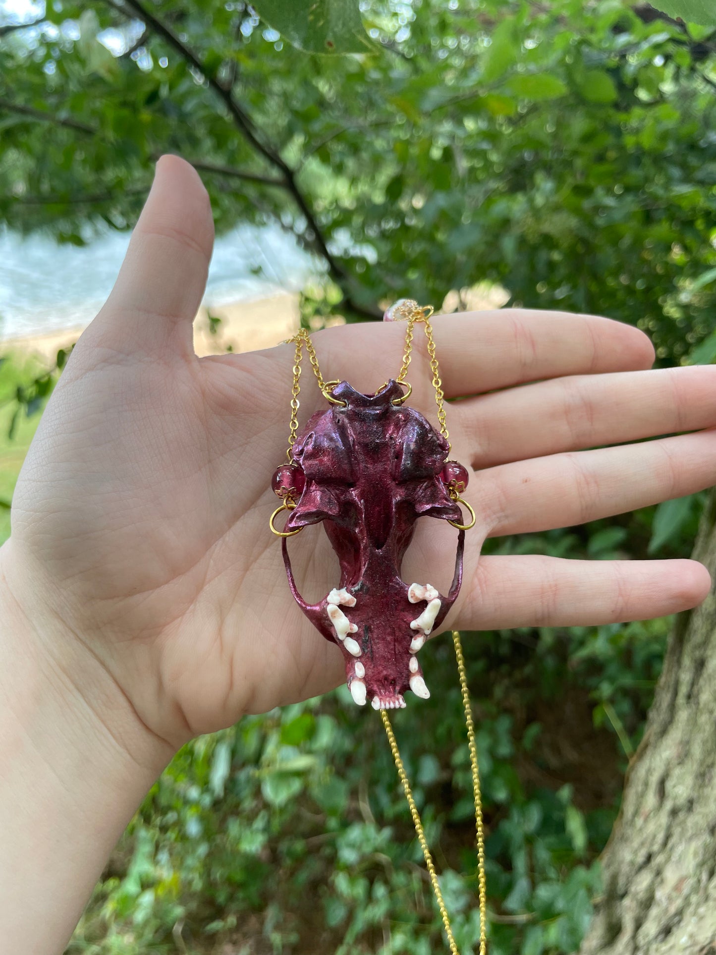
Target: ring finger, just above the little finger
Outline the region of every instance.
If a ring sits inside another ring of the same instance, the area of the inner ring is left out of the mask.
[[[570,527],[716,483],[716,431],[498,464],[470,499],[488,536]]]

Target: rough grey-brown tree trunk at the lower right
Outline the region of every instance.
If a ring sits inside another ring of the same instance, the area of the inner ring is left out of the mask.
[[[693,555],[716,581],[716,497]],[[580,955],[716,955],[716,593],[682,615]]]

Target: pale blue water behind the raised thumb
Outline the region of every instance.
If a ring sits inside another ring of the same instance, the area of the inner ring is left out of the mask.
[[[0,339],[73,329],[90,322],[112,289],[129,243],[112,232],[78,248],[0,231]],[[242,225],[217,239],[204,305],[297,291],[308,255],[275,225]]]

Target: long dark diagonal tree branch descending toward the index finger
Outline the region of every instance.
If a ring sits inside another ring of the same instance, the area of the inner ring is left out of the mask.
[[[119,5],[116,3],[116,0],[105,0],[105,2],[109,3],[110,6],[116,10],[120,9]],[[340,286],[344,287],[348,281],[347,273],[329,250],[321,226],[319,225],[313,210],[308,205],[303,192],[298,186],[296,181],[296,171],[284,161],[281,155],[271,145],[263,141],[263,138],[257,133],[251,118],[244,112],[242,106],[234,98],[233,92],[221,85],[217,75],[207,70],[207,68],[201,62],[198,54],[194,53],[193,50],[183,43],[179,39],[177,33],[175,33],[171,27],[159,20],[154,13],[149,11],[142,0],[123,0],[123,4],[125,8],[125,15],[127,15],[126,10],[128,9],[135,11],[137,16],[147,25],[149,29],[157,33],[158,36],[160,36],[166,43],[169,44],[169,46],[179,53],[181,58],[186,63],[192,66],[198,74],[205,78],[209,88],[216,96],[221,99],[221,102],[228,110],[229,114],[234,120],[234,124],[242,134],[242,137],[261,156],[263,156],[263,159],[266,159],[278,170],[281,180],[283,180],[284,183],[284,189],[292,197],[293,201],[298,206],[299,211],[305,218],[306,226],[311,233],[311,244],[326,261],[326,264],[328,265],[328,271],[330,272],[331,276]],[[345,303],[347,307],[356,314],[365,318],[380,317],[380,312],[377,308],[371,309],[360,306],[358,303],[353,301],[350,295],[347,294],[345,288],[344,295],[346,296]]]

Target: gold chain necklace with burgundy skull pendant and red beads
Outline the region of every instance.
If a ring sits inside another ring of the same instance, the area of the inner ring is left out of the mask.
[[[403,363],[394,379],[374,394],[363,394],[347,381],[325,381],[313,343],[305,329],[295,343],[291,415],[286,463],[280,465],[271,486],[281,499],[269,519],[282,538],[288,585],[305,616],[331,643],[341,648],[346,662],[348,690],[358,706],[380,712],[390,752],[398,771],[412,822],[430,875],[452,955],[459,955],[440,889],[432,853],[425,838],[411,784],[405,772],[388,711],[404,709],[404,693],[430,697],[417,653],[435,626],[452,607],[462,584],[465,532],[475,523],[470,504],[462,499],[468,472],[449,460],[450,435],[445,394],[432,336],[432,306],[411,299],[386,312],[387,321],[406,321]],[[425,329],[435,394],[439,432],[406,404],[412,388],[406,380],[411,365],[415,326]],[[298,433],[301,362],[304,348],[321,393],[331,406],[313,414]],[[460,505],[470,514],[464,522]],[[275,520],[288,512],[284,530]],[[419,517],[447,520],[457,528],[453,583],[447,595],[432,584],[405,584],[400,576],[403,557]],[[307,604],[296,586],[287,539],[307,524],[323,522],[341,566],[341,580],[318,604]],[[422,605],[420,612],[415,605]],[[453,630],[460,690],[465,710],[473,777],[477,874],[479,888],[479,955],[487,952],[487,886],[482,798],[465,660],[460,634]]]

